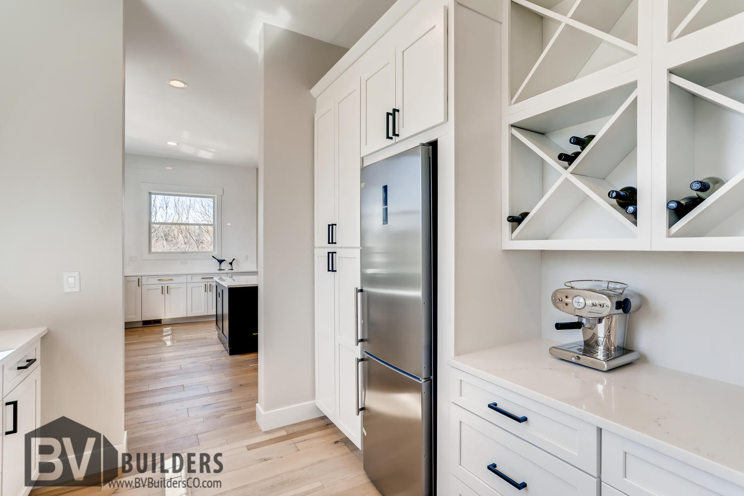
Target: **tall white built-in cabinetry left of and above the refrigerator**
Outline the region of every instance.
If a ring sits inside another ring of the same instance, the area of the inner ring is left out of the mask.
[[[397,2],[315,93],[315,404],[359,448],[362,157],[446,122],[446,13],[442,0]]]

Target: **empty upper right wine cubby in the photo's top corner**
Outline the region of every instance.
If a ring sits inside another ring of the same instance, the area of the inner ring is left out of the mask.
[[[669,39],[681,38],[744,13],[741,0],[669,0]]]

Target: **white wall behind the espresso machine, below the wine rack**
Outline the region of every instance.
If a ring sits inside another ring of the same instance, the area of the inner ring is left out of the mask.
[[[744,385],[737,355],[744,348],[741,274],[744,254],[544,251],[542,335],[581,339],[580,331],[554,329],[554,323],[572,320],[550,303],[565,281],[618,280],[643,297],[626,343],[642,360]]]

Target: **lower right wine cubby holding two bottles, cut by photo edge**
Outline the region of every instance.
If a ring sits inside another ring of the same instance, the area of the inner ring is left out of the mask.
[[[668,211],[668,237],[744,236],[744,43],[670,69],[667,201],[689,196],[705,199]]]

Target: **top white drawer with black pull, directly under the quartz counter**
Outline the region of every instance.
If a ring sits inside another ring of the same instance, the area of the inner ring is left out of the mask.
[[[599,475],[599,428],[461,370],[453,369],[452,376],[453,402],[561,460]],[[520,422],[512,416],[526,420]]]

